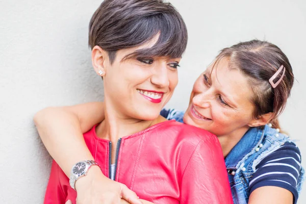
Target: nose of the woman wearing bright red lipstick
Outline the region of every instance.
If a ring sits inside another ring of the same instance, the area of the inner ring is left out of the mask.
[[[160,88],[169,86],[169,76],[166,63],[159,63],[152,69],[151,83]]]

